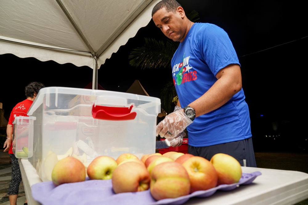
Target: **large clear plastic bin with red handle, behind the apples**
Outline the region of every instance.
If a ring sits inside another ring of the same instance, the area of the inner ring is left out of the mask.
[[[129,111],[136,115],[130,120],[94,118],[87,110],[93,105],[132,106]],[[42,88],[28,112],[37,119],[34,154],[28,160],[42,181],[50,181],[53,167],[66,156],[74,156],[87,166],[101,155],[116,159],[125,152],[139,158],[152,154],[159,112],[160,99],[155,97],[106,90]]]

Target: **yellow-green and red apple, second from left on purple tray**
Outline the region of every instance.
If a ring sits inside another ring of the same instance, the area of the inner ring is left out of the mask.
[[[111,179],[118,163],[110,156],[98,156],[87,167],[90,179]]]

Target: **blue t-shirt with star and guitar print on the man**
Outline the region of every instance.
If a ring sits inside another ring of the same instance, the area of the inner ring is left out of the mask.
[[[201,97],[230,64],[240,65],[228,34],[209,23],[194,23],[173,55],[172,77],[181,107]],[[187,127],[188,144],[204,147],[251,137],[243,89],[220,108],[196,117]]]

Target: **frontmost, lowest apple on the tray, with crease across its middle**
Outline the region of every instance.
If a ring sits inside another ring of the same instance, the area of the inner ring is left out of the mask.
[[[151,171],[150,193],[156,200],[189,194],[189,175],[183,165],[172,162],[157,164]]]

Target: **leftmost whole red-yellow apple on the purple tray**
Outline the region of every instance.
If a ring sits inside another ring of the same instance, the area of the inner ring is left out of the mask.
[[[63,183],[82,182],[86,180],[86,169],[82,162],[74,157],[66,157],[55,165],[51,173],[55,186]]]

